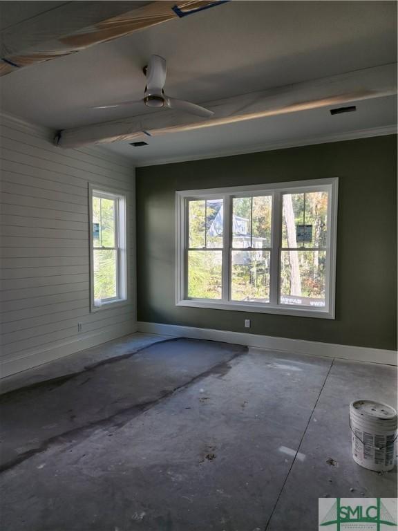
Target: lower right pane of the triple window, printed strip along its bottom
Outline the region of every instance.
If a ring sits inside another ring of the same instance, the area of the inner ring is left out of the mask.
[[[281,304],[325,306],[326,251],[281,252]]]

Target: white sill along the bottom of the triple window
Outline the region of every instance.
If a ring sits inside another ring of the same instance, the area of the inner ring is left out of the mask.
[[[312,308],[297,308],[292,306],[265,306],[265,304],[211,301],[204,299],[184,299],[176,302],[176,306],[191,308],[207,308],[214,310],[231,310],[247,313],[271,313],[275,315],[293,315],[295,317],[316,317],[318,319],[334,319],[334,312],[315,310]]]

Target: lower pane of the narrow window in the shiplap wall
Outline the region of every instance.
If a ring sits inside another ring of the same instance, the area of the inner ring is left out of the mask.
[[[116,251],[95,249],[94,253],[94,299],[117,297]]]

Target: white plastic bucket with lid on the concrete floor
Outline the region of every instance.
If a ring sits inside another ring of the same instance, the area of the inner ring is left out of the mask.
[[[352,457],[369,470],[387,472],[395,464],[397,411],[372,400],[350,404]]]

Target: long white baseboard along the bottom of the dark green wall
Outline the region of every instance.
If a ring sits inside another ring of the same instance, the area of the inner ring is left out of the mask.
[[[357,362],[397,365],[397,352],[387,351],[381,348],[319,343],[303,341],[302,339],[288,339],[287,337],[272,337],[269,335],[229,332],[228,330],[211,330],[210,328],[196,328],[194,326],[178,326],[173,324],[138,322],[137,325],[138,332],[171,335],[174,337],[192,337],[194,339],[210,339],[212,341],[267,348],[267,350],[272,351],[339,357],[343,358],[343,360],[354,360]]]

